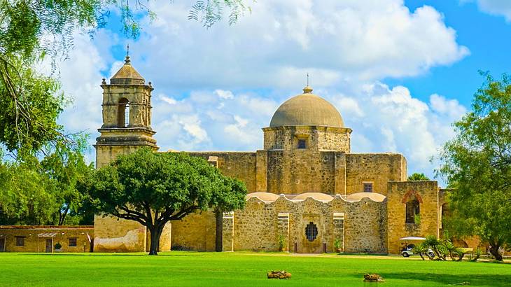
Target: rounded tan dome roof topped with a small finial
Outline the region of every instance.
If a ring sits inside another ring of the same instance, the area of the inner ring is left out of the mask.
[[[312,88],[307,86],[304,87],[303,94],[288,99],[276,110],[269,126],[281,125],[344,127],[344,122],[335,106],[322,97],[312,94]]]

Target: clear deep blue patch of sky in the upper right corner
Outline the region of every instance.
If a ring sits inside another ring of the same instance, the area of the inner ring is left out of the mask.
[[[496,6],[498,2],[504,5],[507,2],[507,13],[511,14],[511,1],[493,2]],[[387,79],[385,83],[405,85],[419,99],[433,93],[446,94],[468,107],[482,84],[478,70],[490,71],[495,77],[511,72],[511,23],[506,21],[505,10],[504,15],[485,13],[479,10],[477,2],[414,0],[405,4],[410,10],[423,5],[439,10],[446,25],[456,29],[458,43],[470,49],[470,56],[452,65],[437,66],[421,76]]]

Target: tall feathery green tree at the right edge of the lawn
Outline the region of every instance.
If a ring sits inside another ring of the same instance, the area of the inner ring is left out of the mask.
[[[449,232],[477,235],[502,260],[500,248],[511,244],[511,78],[484,76],[472,111],[454,123],[456,137],[444,145],[438,172],[455,188]]]

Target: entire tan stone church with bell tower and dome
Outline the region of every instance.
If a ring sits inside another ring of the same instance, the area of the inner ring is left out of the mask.
[[[97,168],[142,146],[158,150],[151,128],[151,82],[129,57],[107,84]],[[188,152],[244,181],[246,207],[223,216],[224,251],[399,253],[401,237],[440,235],[444,190],[407,181],[398,153],[351,153],[339,111],[311,87],[281,104],[254,152]],[[215,250],[215,216],[169,223],[160,248]],[[94,218],[94,251],[146,251],[148,230],[132,221]]]

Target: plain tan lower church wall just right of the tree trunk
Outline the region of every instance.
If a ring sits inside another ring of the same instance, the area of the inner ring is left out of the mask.
[[[172,221],[172,248],[215,251],[216,221],[211,211],[189,214],[181,221]]]

